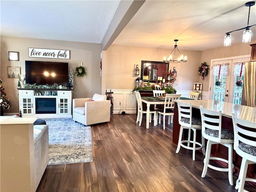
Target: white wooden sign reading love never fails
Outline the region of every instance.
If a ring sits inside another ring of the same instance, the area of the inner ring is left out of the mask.
[[[70,50],[28,48],[29,57],[70,59]]]

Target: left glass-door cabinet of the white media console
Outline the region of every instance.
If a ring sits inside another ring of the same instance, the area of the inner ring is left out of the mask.
[[[22,115],[34,114],[33,99],[34,91],[33,90],[19,90],[19,101],[20,101],[20,110]]]

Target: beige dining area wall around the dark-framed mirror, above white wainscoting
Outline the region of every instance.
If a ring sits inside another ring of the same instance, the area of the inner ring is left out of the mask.
[[[162,61],[164,55],[170,54],[170,49],[145,48],[136,46],[111,45],[106,51],[106,88],[108,89],[133,89],[135,86],[134,65],[141,61]],[[198,66],[201,64],[200,51],[183,51],[188,55],[188,62],[170,64],[176,67],[177,90],[192,90],[194,82],[198,82]],[[141,72],[141,70],[140,70]]]

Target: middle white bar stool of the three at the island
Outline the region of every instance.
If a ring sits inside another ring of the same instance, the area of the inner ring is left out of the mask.
[[[202,178],[205,177],[207,168],[212,168],[217,171],[228,172],[229,184],[233,185],[233,168],[232,156],[233,156],[233,146],[234,143],[234,133],[232,130],[226,130],[221,128],[221,111],[212,111],[204,109],[200,106],[200,113],[202,119],[202,136],[208,140],[206,146],[206,156],[204,158],[204,169],[202,172]],[[213,144],[222,144],[228,147],[228,160],[219,157],[211,157],[211,148]],[[219,160],[226,162],[228,168],[220,168],[210,164],[210,160]]]

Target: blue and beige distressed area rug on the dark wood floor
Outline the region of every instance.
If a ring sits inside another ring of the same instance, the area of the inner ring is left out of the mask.
[[[44,119],[49,126],[48,165],[92,162],[90,126],[72,118]]]

